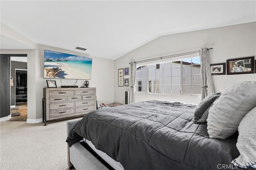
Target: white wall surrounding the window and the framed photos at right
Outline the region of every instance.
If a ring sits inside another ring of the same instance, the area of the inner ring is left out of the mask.
[[[114,101],[124,103],[124,91],[129,91],[129,87],[118,87],[117,71],[128,67],[130,61],[196,51],[203,47],[213,47],[209,52],[210,63],[226,63],[227,59],[255,56],[256,22],[162,36],[123,55],[114,61]],[[256,74],[214,75],[212,77],[215,92],[224,91],[239,81],[256,81]],[[151,99],[195,104],[200,102],[200,96],[197,95],[135,94],[136,102]]]

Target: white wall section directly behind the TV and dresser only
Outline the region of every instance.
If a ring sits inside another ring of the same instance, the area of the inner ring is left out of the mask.
[[[38,77],[42,86],[40,88],[47,87],[46,79],[43,79],[44,75],[44,49],[51,51],[58,51],[62,53],[80,55],[84,57],[92,58],[92,75],[89,81],[89,87],[96,87],[97,100],[101,103],[113,103],[114,102],[114,61],[110,59],[104,59],[101,57],[94,57],[85,53],[80,53],[76,51],[69,51],[66,49],[60,49],[56,47],[38,45]],[[76,80],[74,79],[54,79],[56,80],[57,87],[61,85],[74,85]],[[78,87],[84,86],[85,80],[78,80],[76,85]],[[62,83],[61,83],[62,82]]]

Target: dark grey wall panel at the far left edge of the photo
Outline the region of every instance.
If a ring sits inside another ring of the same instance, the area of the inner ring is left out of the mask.
[[[0,118],[10,115],[10,57],[0,56]]]

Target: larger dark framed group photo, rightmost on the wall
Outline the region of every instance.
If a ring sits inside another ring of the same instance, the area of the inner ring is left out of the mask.
[[[254,56],[227,59],[227,75],[254,73]]]

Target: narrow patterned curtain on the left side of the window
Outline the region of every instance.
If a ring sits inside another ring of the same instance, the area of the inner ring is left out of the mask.
[[[130,98],[129,103],[135,102],[135,79],[136,79],[136,62],[130,62]]]

